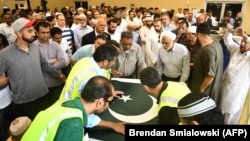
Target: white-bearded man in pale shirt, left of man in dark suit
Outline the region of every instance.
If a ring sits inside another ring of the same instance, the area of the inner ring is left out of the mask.
[[[76,49],[81,47],[82,37],[89,32],[93,31],[93,28],[87,25],[87,17],[84,14],[78,16],[79,24],[75,27],[74,31],[74,41]]]

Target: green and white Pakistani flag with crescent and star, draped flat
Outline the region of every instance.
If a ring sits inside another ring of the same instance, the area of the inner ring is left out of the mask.
[[[123,91],[121,98],[116,99],[109,109],[100,117],[104,120],[122,121],[133,125],[157,124],[156,98],[143,89],[139,79],[112,79],[116,90]],[[89,137],[103,141],[123,141],[124,136],[111,129],[92,128]]]

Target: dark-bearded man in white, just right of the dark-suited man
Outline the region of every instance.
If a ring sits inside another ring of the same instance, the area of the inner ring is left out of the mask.
[[[121,34],[116,31],[118,22],[115,19],[110,19],[108,21],[107,33],[110,35],[111,40],[115,40],[116,42],[120,42]]]

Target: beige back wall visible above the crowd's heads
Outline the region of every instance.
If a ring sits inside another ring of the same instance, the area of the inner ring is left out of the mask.
[[[38,5],[40,5],[40,0],[30,0],[30,5],[32,9],[35,9]],[[48,0],[48,7],[53,10],[54,8],[58,8],[59,10],[62,7],[69,6],[73,7],[73,1],[74,0]],[[53,1],[53,2],[52,2]],[[76,0],[77,1],[77,0]],[[187,3],[187,1],[189,3]],[[89,5],[100,5],[100,3],[105,2],[106,5],[109,6],[126,6],[129,8],[131,3],[134,3],[136,7],[158,7],[160,9],[165,8],[167,10],[174,9],[177,11],[179,7],[181,8],[205,8],[205,0],[88,0]],[[7,5],[9,8],[15,8],[14,0],[2,0],[0,2],[0,7],[3,7],[3,5]],[[246,32],[250,34],[250,26],[248,26],[247,14],[250,13],[250,2],[249,0],[246,0],[245,7],[243,8],[243,27],[246,29]],[[2,10],[0,11],[2,13]]]

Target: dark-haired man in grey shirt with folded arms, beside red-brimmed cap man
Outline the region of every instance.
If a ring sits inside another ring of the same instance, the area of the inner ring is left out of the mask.
[[[36,25],[37,40],[33,42],[35,46],[39,47],[39,50],[42,56],[46,61],[59,72],[66,65],[64,58],[63,50],[61,47],[54,41],[50,41],[50,25],[47,22],[41,21]],[[48,72],[43,72],[43,77],[46,82],[47,87],[49,88],[49,95],[51,97],[51,103],[54,103],[58,100],[59,95],[61,94],[64,82],[62,79],[51,76]]]

